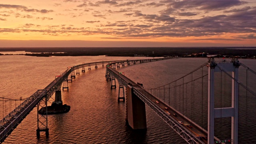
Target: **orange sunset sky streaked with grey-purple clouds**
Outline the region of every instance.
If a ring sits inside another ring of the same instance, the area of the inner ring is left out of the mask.
[[[255,0],[0,0],[0,47],[256,46]]]

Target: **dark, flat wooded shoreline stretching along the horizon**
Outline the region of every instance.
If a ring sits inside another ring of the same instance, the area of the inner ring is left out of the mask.
[[[144,55],[150,57],[184,56],[192,53],[216,54],[219,56],[256,56],[256,47],[206,47],[206,48],[167,48],[167,47],[140,47],[140,48],[0,48],[2,52],[26,51],[34,54],[27,56],[134,56]],[[62,52],[62,53],[60,53]],[[38,54],[36,54],[38,53]]]

